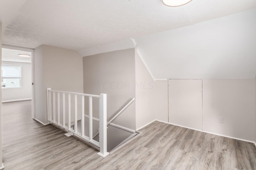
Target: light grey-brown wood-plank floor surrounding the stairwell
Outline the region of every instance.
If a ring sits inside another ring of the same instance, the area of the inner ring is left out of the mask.
[[[31,101],[3,104],[6,170],[254,170],[253,143],[155,121],[106,158],[52,125],[31,119]]]

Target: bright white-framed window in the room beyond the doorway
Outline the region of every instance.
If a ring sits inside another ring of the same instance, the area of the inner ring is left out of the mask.
[[[2,88],[21,87],[21,66],[2,65]]]

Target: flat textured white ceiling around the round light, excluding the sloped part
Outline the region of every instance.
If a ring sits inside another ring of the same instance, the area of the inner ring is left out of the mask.
[[[45,44],[77,51],[256,7],[255,0],[192,0],[176,8],[161,0],[1,1],[5,6],[1,5],[0,20],[8,23],[4,44],[28,48]]]

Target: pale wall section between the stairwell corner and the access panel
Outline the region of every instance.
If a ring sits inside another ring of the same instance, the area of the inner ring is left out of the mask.
[[[154,81],[135,51],[136,129],[154,120],[168,122],[168,81]]]

